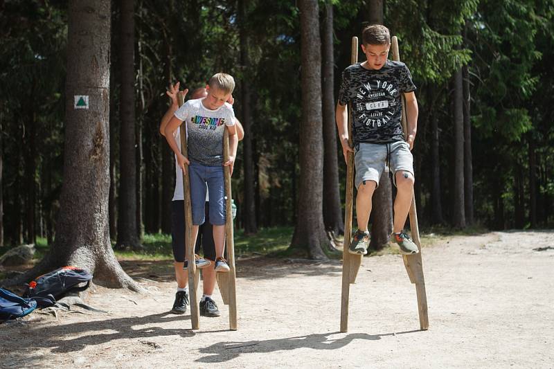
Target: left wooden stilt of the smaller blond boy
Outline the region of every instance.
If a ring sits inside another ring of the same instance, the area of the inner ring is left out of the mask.
[[[184,95],[179,92],[177,95],[179,106],[184,104]],[[181,154],[188,158],[188,150],[186,145],[186,123],[181,125],[179,129],[181,136]],[[195,264],[195,245],[193,245],[193,211],[190,203],[190,181],[188,179],[188,165],[185,165],[185,173],[183,175],[183,194],[185,206],[185,250],[186,259],[188,260],[188,290],[190,296],[190,321],[193,330],[199,329],[199,306],[198,306],[198,284],[200,279],[200,271]]]

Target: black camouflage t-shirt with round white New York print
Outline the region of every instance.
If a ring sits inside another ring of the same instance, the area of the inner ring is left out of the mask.
[[[402,141],[402,93],[415,90],[406,64],[387,60],[379,70],[361,64],[342,73],[339,103],[352,104],[354,143]]]

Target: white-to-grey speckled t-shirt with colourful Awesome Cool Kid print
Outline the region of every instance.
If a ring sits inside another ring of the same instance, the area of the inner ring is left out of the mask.
[[[177,119],[186,123],[188,159],[202,165],[223,165],[223,132],[226,125],[235,124],[235,112],[228,102],[211,110],[202,100],[188,100],[175,111]]]

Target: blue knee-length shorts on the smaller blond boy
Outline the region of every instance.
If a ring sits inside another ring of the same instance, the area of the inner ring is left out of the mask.
[[[225,181],[223,165],[208,166],[190,162],[190,202],[193,206],[193,224],[199,226],[205,221],[206,183],[210,194],[210,219],[214,226],[225,224]]]

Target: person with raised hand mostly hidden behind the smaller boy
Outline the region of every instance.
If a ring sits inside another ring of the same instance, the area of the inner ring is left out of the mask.
[[[166,126],[169,123],[170,118],[175,114],[175,111],[179,109],[177,102],[177,93],[179,92],[179,82],[174,85],[170,85],[167,94],[171,99],[171,105],[163,116],[160,124],[160,133],[165,135]],[[184,95],[188,92],[186,89]],[[205,98],[208,95],[205,87],[195,89],[191,93],[191,99]],[[233,98],[229,100],[233,104]],[[238,141],[241,141],[244,137],[244,129],[242,125],[235,119],[237,125]],[[179,129],[175,131],[175,136],[179,140]],[[180,141],[177,141],[180,150]],[[184,314],[188,305],[188,278],[186,276],[186,261],[185,261],[185,211],[184,211],[184,194],[183,194],[183,171],[177,165],[177,159],[175,160],[175,192],[172,199],[172,224],[171,224],[171,238],[173,256],[175,258],[175,278],[177,280],[177,293],[175,294],[175,302],[171,312],[174,314]],[[202,316],[220,316],[220,311],[217,308],[217,304],[212,299],[213,291],[215,289],[215,269],[207,268],[211,263],[215,262],[215,244],[213,242],[213,229],[209,224],[209,204],[206,197],[206,222],[199,227],[199,237],[195,244],[195,262],[197,267],[202,268],[202,282],[203,282],[203,295],[200,300],[200,314]],[[204,258],[199,258],[200,244],[204,250]]]

